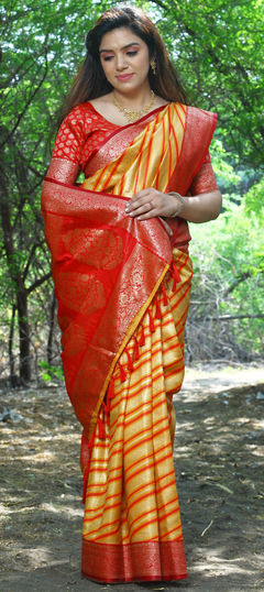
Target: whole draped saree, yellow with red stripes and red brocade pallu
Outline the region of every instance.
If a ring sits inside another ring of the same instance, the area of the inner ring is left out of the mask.
[[[186,195],[216,125],[187,109],[172,103],[118,130],[81,188],[50,176],[43,189],[66,386],[84,426],[81,569],[97,581],[186,577],[172,396],[191,281],[177,244],[189,234],[167,220],[169,238],[161,220],[124,208],[145,187]]]

